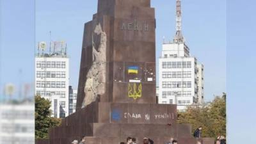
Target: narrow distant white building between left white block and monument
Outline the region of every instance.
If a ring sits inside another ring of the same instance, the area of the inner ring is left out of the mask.
[[[69,86],[69,101],[68,101],[68,113],[71,115],[76,112],[76,100],[77,100],[77,90],[74,90],[72,86]]]

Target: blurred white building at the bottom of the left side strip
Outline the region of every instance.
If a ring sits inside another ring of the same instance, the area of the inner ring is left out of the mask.
[[[35,104],[0,104],[0,143],[35,143]]]

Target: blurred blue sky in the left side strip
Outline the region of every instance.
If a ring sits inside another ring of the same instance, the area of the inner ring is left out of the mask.
[[[1,0],[0,6],[0,95],[13,83],[18,97],[20,84],[34,83],[35,3]]]

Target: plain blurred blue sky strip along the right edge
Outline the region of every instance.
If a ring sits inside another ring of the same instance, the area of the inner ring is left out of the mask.
[[[256,1],[227,3],[228,143],[256,143]]]

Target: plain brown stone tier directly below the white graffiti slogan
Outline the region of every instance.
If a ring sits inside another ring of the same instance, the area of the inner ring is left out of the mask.
[[[111,124],[91,123],[55,127],[49,131],[49,138],[95,136],[100,138],[148,136],[191,138],[191,125],[188,124]]]

